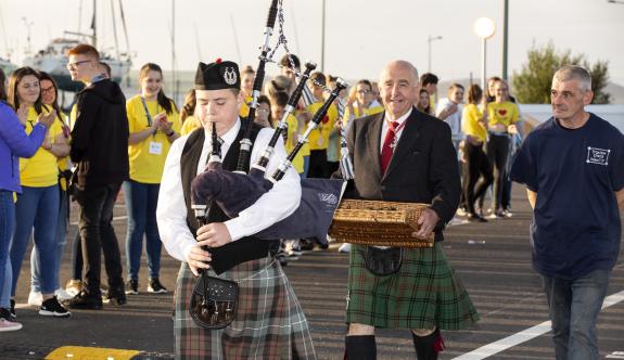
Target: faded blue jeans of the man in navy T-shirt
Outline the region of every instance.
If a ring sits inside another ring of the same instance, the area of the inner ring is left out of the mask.
[[[543,277],[557,360],[599,358],[596,320],[610,274],[611,270],[598,269],[571,281]]]

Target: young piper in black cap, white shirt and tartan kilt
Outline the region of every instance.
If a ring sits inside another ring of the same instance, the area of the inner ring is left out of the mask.
[[[204,130],[178,139],[165,163],[156,218],[167,252],[182,261],[176,288],[176,357],[314,359],[307,321],[288,278],[275,260],[269,241],[253,237],[296,209],[301,198],[297,173],[289,169],[271,191],[237,218],[228,218],[213,205],[207,213],[208,224],[200,227],[191,210],[190,184],[204,170],[209,157],[213,123],[222,141],[226,170],[237,167],[240,140],[247,126],[253,126],[252,162],[260,156],[272,136],[272,130],[239,118],[243,103],[240,85],[235,63],[220,60],[207,65],[200,63],[195,75],[196,112]],[[280,140],[267,172],[272,173],[283,158],[285,151]],[[249,254],[262,255],[250,258]],[[217,260],[221,269],[213,268]],[[224,268],[222,263],[228,262],[231,265]],[[200,270],[238,283],[234,320],[224,329],[201,327],[189,316]]]

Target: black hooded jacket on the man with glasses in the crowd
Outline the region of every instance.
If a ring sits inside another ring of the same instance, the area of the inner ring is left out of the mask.
[[[78,164],[75,183],[85,189],[127,180],[128,137],[126,98],[117,83],[100,80],[78,92],[69,152]]]

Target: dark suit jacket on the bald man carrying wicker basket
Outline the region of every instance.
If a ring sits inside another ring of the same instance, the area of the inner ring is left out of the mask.
[[[381,173],[381,130],[385,113],[356,119],[347,133],[354,187],[345,197],[425,203],[441,221],[435,240],[453,219],[461,185],[448,125],[412,108],[385,175]]]

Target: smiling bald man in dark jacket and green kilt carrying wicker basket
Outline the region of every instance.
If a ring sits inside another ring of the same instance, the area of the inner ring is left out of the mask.
[[[374,330],[391,327],[411,331],[418,359],[437,359],[444,344],[441,329],[462,329],[479,319],[441,244],[461,191],[457,155],[448,125],[413,107],[420,90],[413,65],[387,64],[379,85],[385,111],[354,121],[348,131],[355,182],[347,196],[431,204],[415,236],[433,232],[435,245],[413,249],[353,245],[346,357],[375,359]],[[391,271],[380,273],[366,263],[367,257],[397,253],[403,253],[402,263]]]

